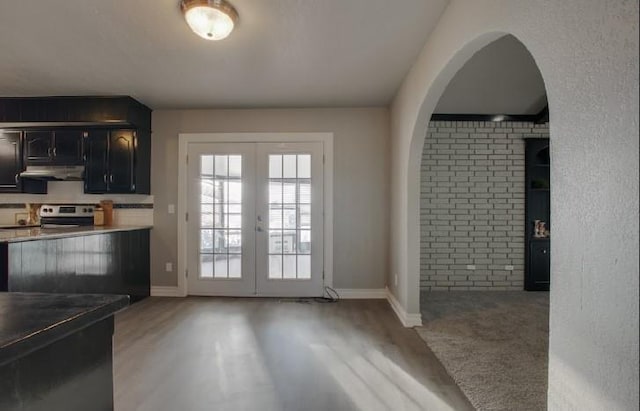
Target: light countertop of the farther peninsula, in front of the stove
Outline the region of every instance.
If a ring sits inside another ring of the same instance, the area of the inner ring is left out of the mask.
[[[20,241],[45,240],[50,238],[77,237],[82,235],[105,234],[116,231],[135,231],[151,229],[149,225],[112,225],[86,227],[56,227],[56,228],[16,228],[0,230],[0,243],[15,243]]]

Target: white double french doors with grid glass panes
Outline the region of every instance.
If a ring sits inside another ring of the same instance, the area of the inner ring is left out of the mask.
[[[192,295],[323,293],[322,143],[189,143]]]

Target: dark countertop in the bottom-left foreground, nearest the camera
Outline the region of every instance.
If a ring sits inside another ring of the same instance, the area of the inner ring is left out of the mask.
[[[129,305],[126,295],[0,292],[0,365]]]

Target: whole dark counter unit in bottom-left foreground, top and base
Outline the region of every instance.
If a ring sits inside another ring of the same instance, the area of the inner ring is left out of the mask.
[[[122,295],[0,293],[0,409],[113,409]]]

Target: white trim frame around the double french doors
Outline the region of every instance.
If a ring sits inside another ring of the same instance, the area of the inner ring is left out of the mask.
[[[333,287],[333,133],[178,134],[178,293],[187,295],[187,149],[189,143],[321,142],[324,148],[324,285]]]

